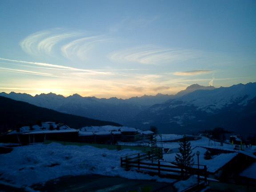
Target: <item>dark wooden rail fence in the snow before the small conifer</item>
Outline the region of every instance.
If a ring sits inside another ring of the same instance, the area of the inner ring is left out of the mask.
[[[126,170],[135,168],[138,172],[146,172],[160,177],[183,179],[190,175],[197,175],[198,180],[207,181],[206,165],[175,164],[160,160],[163,154],[158,150],[136,153],[121,157],[121,167]]]

